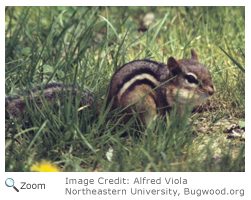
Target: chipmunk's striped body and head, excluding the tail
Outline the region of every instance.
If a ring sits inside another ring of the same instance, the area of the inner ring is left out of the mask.
[[[170,113],[175,102],[183,112],[212,96],[216,89],[209,70],[198,62],[196,52],[191,59],[168,59],[167,65],[152,60],[135,60],[120,67],[110,83],[106,106],[122,108],[127,122],[138,113],[143,123],[154,116]]]

